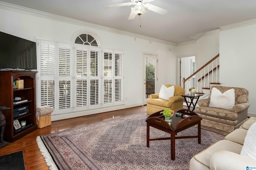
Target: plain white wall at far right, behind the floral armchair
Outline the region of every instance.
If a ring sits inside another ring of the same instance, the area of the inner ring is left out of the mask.
[[[256,117],[256,24],[220,31],[220,82],[249,91],[248,115]]]

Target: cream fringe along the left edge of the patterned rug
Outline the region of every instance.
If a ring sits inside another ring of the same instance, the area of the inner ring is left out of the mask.
[[[50,153],[48,152],[48,150],[46,149],[46,147],[44,146],[43,141],[41,140],[41,137],[38,136],[36,137],[36,142],[38,145],[38,148],[40,149],[40,151],[42,152],[42,155],[44,157],[44,160],[46,162],[46,165],[49,166],[50,170],[58,170],[56,164],[54,163],[54,161],[52,160],[52,156],[50,155]]]

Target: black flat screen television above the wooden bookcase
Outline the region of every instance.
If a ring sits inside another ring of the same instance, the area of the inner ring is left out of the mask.
[[[0,32],[0,69],[36,69],[36,43]]]

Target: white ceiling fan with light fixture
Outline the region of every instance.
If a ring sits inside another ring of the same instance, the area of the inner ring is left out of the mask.
[[[154,0],[131,0],[131,2],[106,5],[104,6],[104,8],[114,8],[114,7],[120,7],[120,6],[134,5],[134,7],[131,8],[131,13],[130,13],[130,16],[128,17],[128,20],[133,20],[136,15],[141,16],[142,14],[147,12],[147,10],[151,10],[161,15],[166,14],[167,10],[160,8],[158,6],[155,6],[153,4],[150,4],[149,2],[152,2],[152,1]]]

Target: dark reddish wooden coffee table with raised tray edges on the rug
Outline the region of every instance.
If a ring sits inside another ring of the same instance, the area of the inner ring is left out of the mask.
[[[172,116],[172,122],[164,121],[163,110],[157,111],[152,115],[148,116],[146,119],[147,122],[147,147],[149,147],[149,141],[156,140],[171,140],[171,159],[175,160],[175,139],[184,139],[184,138],[198,138],[198,143],[201,143],[201,120],[202,118],[198,116],[194,111],[188,109],[178,110],[177,113],[182,113],[182,116]],[[188,117],[183,117],[183,115],[189,115]],[[198,135],[196,136],[182,136],[175,137],[175,134],[188,129],[194,125],[198,125]],[[154,127],[161,131],[165,131],[171,134],[171,137],[165,138],[150,138],[149,137],[149,127]]]

